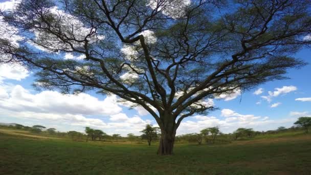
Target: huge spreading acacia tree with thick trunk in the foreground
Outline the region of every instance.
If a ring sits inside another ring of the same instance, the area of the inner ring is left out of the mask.
[[[182,120],[215,108],[208,99],[304,64],[292,55],[310,44],[310,4],[24,0],[1,14],[20,37],[0,39],[0,60],[36,69],[38,88],[97,90],[144,107],[161,128],[158,154],[170,155]]]

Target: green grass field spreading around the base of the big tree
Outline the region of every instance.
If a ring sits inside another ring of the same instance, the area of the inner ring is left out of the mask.
[[[311,136],[288,134],[222,145],[74,142],[0,131],[0,174],[311,174]]]

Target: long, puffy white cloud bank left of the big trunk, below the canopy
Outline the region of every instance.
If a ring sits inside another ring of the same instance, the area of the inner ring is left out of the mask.
[[[10,92],[0,86],[9,96],[0,99],[0,107],[10,111],[72,114],[72,115],[113,115],[121,112],[115,95],[99,100],[88,94],[63,95],[55,91],[43,91],[32,94],[20,85]],[[4,94],[4,93],[2,93]]]

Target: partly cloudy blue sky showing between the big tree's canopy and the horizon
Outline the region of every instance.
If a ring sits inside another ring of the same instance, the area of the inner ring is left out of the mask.
[[[0,0],[0,7],[3,2]],[[8,8],[11,4],[6,5]],[[224,133],[238,127],[269,130],[278,126],[290,127],[298,117],[311,116],[310,55],[309,49],[295,55],[309,64],[300,70],[288,70],[286,76],[290,79],[267,82],[249,92],[232,94],[231,98],[214,99],[219,110],[207,116],[186,118],[177,134],[199,132],[211,126],[219,126]],[[91,126],[123,136],[128,133],[139,135],[147,123],[157,125],[141,107],[128,110],[128,105],[118,102],[115,96],[94,92],[79,96],[38,92],[32,87],[33,81],[33,73],[21,65],[0,65],[0,122],[41,124],[60,131],[82,131],[85,126]],[[262,93],[254,94],[260,88]]]

